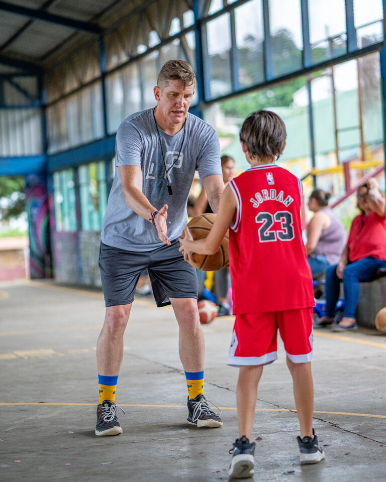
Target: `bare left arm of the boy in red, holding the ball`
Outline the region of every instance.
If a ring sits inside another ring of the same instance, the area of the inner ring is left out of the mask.
[[[184,253],[186,261],[188,258],[186,253],[188,252],[202,255],[213,255],[217,252],[224,235],[232,222],[232,217],[236,208],[237,202],[235,196],[228,185],[221,195],[216,220],[207,237],[194,241],[187,226],[184,227],[185,237],[183,239],[179,238],[181,244],[179,251]]]

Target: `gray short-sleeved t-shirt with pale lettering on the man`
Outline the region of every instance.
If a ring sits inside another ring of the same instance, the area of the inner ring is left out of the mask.
[[[136,112],[123,121],[117,132],[115,176],[101,234],[105,245],[128,251],[151,251],[163,245],[157,229],[126,204],[119,166],[140,166],[143,194],[157,209],[168,205],[170,241],[180,236],[187,222],[187,196],[195,171],[199,171],[201,179],[222,174],[216,131],[202,119],[188,113],[185,127],[174,136],[159,127],[158,131],[173,194],[169,195],[167,189],[153,109]]]

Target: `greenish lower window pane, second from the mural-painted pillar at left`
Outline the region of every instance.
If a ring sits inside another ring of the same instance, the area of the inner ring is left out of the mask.
[[[102,228],[107,204],[105,163],[79,166],[78,173],[82,230],[98,231]]]

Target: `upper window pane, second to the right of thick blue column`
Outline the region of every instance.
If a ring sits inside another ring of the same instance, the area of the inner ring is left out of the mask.
[[[235,9],[236,47],[240,87],[264,81],[261,0]]]

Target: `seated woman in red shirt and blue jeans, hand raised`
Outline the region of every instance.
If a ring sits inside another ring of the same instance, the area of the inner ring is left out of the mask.
[[[376,179],[370,178],[357,190],[358,208],[354,217],[347,245],[337,265],[326,271],[326,315],[314,326],[331,325],[335,304],[343,281],[344,311],[333,331],[356,328],[355,310],[359,297],[359,282],[377,278],[379,268],[386,267],[386,219],[385,198],[379,191]]]

